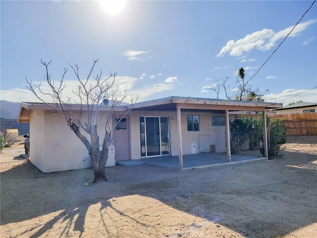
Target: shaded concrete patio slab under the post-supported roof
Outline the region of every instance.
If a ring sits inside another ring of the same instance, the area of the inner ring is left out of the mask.
[[[226,153],[191,154],[183,156],[183,169],[230,165],[264,159],[267,158],[262,156],[231,155],[231,162],[228,162],[228,157]],[[160,156],[140,160],[117,161],[116,164],[121,166],[151,165],[157,167],[170,167],[179,169],[178,156]]]

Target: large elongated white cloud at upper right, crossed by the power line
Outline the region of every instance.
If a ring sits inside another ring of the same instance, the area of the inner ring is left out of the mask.
[[[309,20],[307,22],[299,23],[289,37],[296,37],[300,32],[304,31],[309,25],[315,23],[317,19]],[[274,32],[271,29],[263,29],[246,35],[244,38],[237,41],[230,40],[222,47],[216,57],[220,57],[229,52],[230,56],[241,56],[244,52],[249,52],[252,49],[267,51],[275,46],[275,42],[286,35],[292,30],[294,26],[287,27],[279,32]]]

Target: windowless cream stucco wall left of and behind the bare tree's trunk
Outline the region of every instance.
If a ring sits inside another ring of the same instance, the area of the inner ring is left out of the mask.
[[[90,140],[90,135],[81,131]],[[104,126],[98,127],[98,133],[102,144]],[[41,171],[50,173],[92,167],[86,147],[60,116],[50,111],[33,110],[30,136],[30,161]]]

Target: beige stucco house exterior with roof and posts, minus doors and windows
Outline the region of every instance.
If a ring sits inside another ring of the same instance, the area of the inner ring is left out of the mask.
[[[116,109],[118,110],[117,113],[120,114],[119,112],[122,113],[129,107],[131,105],[122,106]],[[169,155],[179,156],[180,164],[182,163],[183,155],[210,152],[211,145],[212,148],[215,148],[215,153],[227,152],[228,160],[230,161],[230,150],[228,150],[229,152],[226,150],[226,143],[229,142],[229,138],[225,138],[225,131],[228,131],[228,129],[225,125],[213,126],[211,123],[212,116],[226,117],[228,115],[230,119],[233,119],[237,116],[236,112],[239,111],[261,111],[265,113],[267,108],[274,107],[281,108],[282,105],[182,97],[169,97],[139,103],[130,108],[131,111],[126,115],[129,148],[127,159],[138,160],[143,158],[141,157],[140,117],[166,117],[169,124]],[[78,110],[81,110],[81,108],[78,105],[74,105],[74,111],[72,112],[76,114],[79,113]],[[99,112],[100,119],[103,118],[99,121],[100,125],[105,122],[105,117],[103,116],[105,116],[106,112],[106,107]],[[229,112],[232,114],[229,114]],[[187,116],[189,115],[199,116],[198,131],[187,130]],[[244,117],[255,116],[248,115],[248,113],[242,113],[242,115]],[[118,116],[114,113],[112,124],[116,117]],[[86,120],[85,113],[83,113],[82,121]],[[52,112],[50,106],[40,103],[21,104],[18,121],[30,123],[30,161],[41,171],[50,173],[92,167],[91,158],[84,144],[68,127],[66,121]],[[227,119],[226,123],[228,123]],[[264,128],[266,129],[265,126]],[[104,129],[104,126],[98,127],[100,144],[102,144],[105,135]],[[90,141],[89,134],[83,130],[81,132]],[[266,130],[264,135],[266,136]],[[114,132],[113,136],[116,141],[114,141],[114,144],[118,144],[115,138],[116,132]],[[203,150],[200,151],[200,149]],[[123,150],[118,151],[121,152]],[[115,148],[109,148],[109,153],[109,158],[111,155],[113,161],[111,163],[107,162],[107,166],[114,166]],[[83,157],[86,160],[83,160]],[[119,155],[118,159],[122,160],[123,158],[125,157]],[[181,165],[180,168],[182,168]]]

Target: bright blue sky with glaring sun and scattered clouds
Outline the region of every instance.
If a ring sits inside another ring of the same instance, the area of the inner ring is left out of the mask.
[[[64,96],[72,97],[78,82],[69,64],[86,78],[98,59],[92,76],[116,72],[118,92],[138,102],[217,98],[215,81],[228,78],[234,90],[243,67],[254,88],[269,90],[266,102],[317,103],[317,3],[277,49],[313,0],[127,0],[118,12],[102,3],[1,0],[0,99],[39,101],[26,78],[48,90],[41,59],[52,60],[56,83],[68,69]]]

